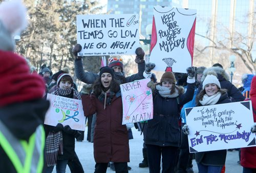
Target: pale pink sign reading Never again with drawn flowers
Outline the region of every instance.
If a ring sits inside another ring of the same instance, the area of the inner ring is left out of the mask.
[[[150,79],[142,79],[120,85],[123,105],[122,125],[153,118],[152,90],[146,85]]]

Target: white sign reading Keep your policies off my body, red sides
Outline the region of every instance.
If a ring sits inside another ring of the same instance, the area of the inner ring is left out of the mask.
[[[197,10],[154,6],[150,62],[154,70],[186,72],[193,64]]]

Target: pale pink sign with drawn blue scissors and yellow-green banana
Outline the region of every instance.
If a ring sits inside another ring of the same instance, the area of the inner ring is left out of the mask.
[[[86,117],[83,114],[81,100],[47,94],[50,108],[45,117],[45,124],[56,126],[62,123],[69,125],[71,129],[84,131],[86,128]]]

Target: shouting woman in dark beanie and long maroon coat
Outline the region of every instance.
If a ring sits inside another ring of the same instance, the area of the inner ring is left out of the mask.
[[[93,140],[95,172],[106,172],[109,162],[114,162],[116,172],[128,172],[128,131],[122,125],[121,91],[112,68],[100,69],[92,94],[88,89],[84,96],[83,111],[86,116],[97,113]]]

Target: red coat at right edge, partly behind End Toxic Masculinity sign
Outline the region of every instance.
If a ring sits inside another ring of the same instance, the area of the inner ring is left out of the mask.
[[[256,122],[256,77],[251,82],[250,100],[253,107],[253,120]],[[241,165],[248,168],[256,168],[256,146],[241,149]]]

